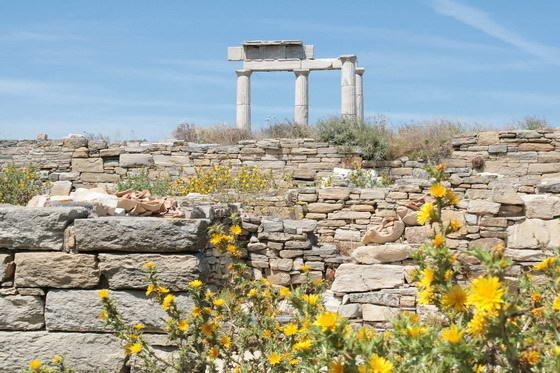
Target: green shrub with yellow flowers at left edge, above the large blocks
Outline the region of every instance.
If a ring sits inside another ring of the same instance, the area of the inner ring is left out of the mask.
[[[0,172],[0,203],[26,205],[33,196],[46,193],[48,187],[34,167],[18,169],[9,163]]]

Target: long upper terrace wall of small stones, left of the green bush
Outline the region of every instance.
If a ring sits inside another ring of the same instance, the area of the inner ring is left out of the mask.
[[[74,186],[117,183],[140,169],[148,169],[152,176],[176,178],[194,174],[194,167],[211,164],[256,166],[278,175],[292,175],[296,182],[313,184],[330,175],[334,167],[349,167],[353,160],[361,160],[356,150],[313,139],[246,140],[237,145],[181,141],[108,145],[83,137],[0,140],[0,166],[9,161],[17,166],[33,164],[51,181],[72,181]]]

